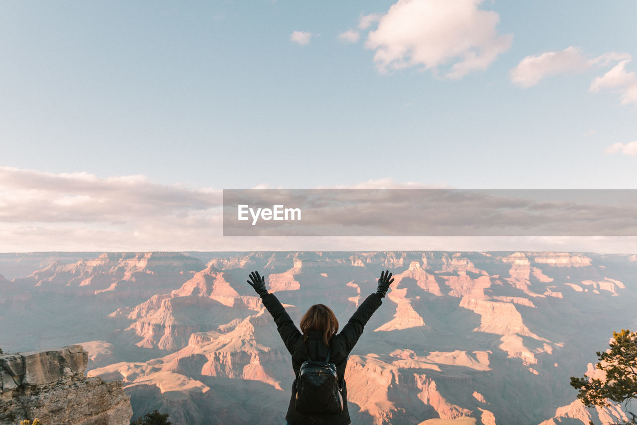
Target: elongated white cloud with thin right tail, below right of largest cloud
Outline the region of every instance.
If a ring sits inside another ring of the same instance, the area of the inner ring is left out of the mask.
[[[591,66],[609,66],[620,60],[630,59],[630,55],[608,52],[589,59],[578,47],[567,47],[559,52],[544,52],[537,56],[527,56],[509,72],[513,83],[521,87],[535,86],[543,78],[564,73],[578,73]]]

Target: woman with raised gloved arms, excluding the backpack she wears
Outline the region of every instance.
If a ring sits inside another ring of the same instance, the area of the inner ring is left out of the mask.
[[[347,410],[347,385],[343,379],[347,358],[361,336],[363,327],[382,304],[382,299],[393,281],[389,270],[381,272],[376,293],[369,295],[361,303],[347,325],[337,334],[338,320],[336,320],[333,311],[324,304],[315,304],[308,309],[301,318],[301,331],[299,331],[275,295],[268,293],[265,277],[259,276],[259,272],[250,274],[248,283],[261,296],[264,306],[275,319],[276,329],[285,343],[285,348],[292,354],[292,369],[294,369],[296,378],[292,383],[292,396],[285,415],[287,424],[346,425],[351,423]],[[295,407],[296,381],[299,378],[301,365],[308,359],[322,361],[328,356],[329,362],[336,364],[337,376],[340,381],[338,387],[341,389],[343,398],[343,411],[337,414],[297,411]]]

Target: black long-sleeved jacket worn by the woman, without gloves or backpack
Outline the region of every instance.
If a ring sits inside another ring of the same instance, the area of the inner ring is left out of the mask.
[[[294,375],[299,377],[299,369],[301,364],[309,358],[312,360],[325,360],[327,357],[327,345],[323,341],[322,331],[308,331],[308,339],[303,343],[303,334],[297,329],[292,319],[287,314],[281,302],[278,301],[274,294],[268,294],[263,297],[263,304],[269,313],[275,319],[276,329],[278,330],[285,348],[292,354],[292,369]],[[356,309],[347,325],[343,327],[340,333],[335,335],[330,341],[329,361],[336,364],[338,377],[341,380],[340,387],[343,396],[343,412],[340,414],[306,414],[297,412],[294,408],[294,398],[296,393],[296,379],[292,382],[292,396],[290,397],[290,405],[287,408],[285,420],[292,425],[302,424],[322,424],[322,425],[346,425],[349,424],[350,414],[347,410],[347,385],[345,383],[345,367],[347,366],[347,358],[354,348],[356,341],[360,338],[363,327],[368,322],[374,311],[382,304],[382,299],[371,294]]]

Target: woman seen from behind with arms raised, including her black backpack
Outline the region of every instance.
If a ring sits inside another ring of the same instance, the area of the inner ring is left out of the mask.
[[[356,309],[338,332],[334,312],[324,304],[315,304],[301,318],[301,330],[274,294],[266,289],[259,272],[249,275],[248,283],[261,296],[264,306],[275,320],[285,348],[292,355],[292,395],[285,415],[286,425],[347,425],[347,384],[343,378],[347,359],[361,337],[369,318],[382,304],[394,281],[389,270],[381,272],[378,288]]]

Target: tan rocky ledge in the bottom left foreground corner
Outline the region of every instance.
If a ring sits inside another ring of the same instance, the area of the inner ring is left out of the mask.
[[[81,345],[0,355],[0,425],[38,418],[43,424],[128,425],[130,397],[121,381],[87,378]]]

